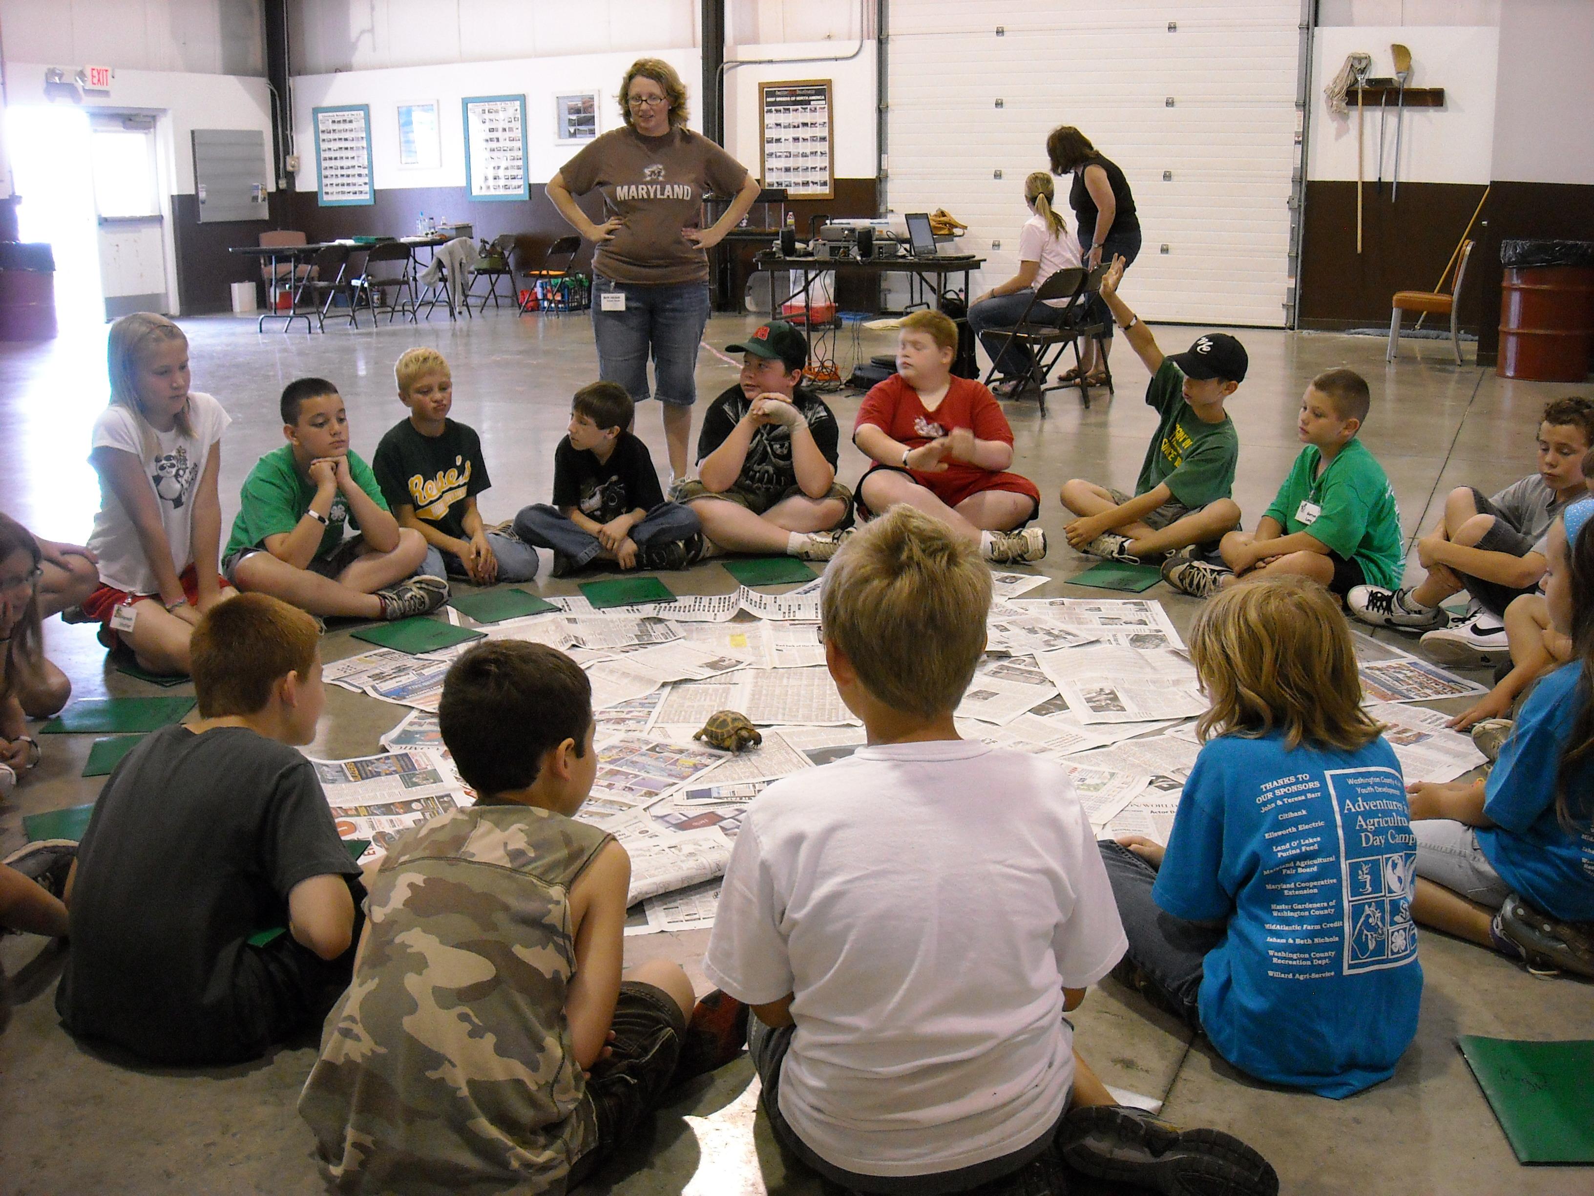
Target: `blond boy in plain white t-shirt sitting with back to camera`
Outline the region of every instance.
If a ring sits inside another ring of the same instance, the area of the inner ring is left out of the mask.
[[[1267,1191],[1242,1143],[1114,1107],[1073,1051],[1063,1014],[1124,928],[1063,769],[956,734],[990,596],[977,547],[907,506],[826,574],[826,662],[869,745],[752,802],[703,960],[752,1006],[775,1135],[853,1191],[1028,1190],[1060,1155]]]

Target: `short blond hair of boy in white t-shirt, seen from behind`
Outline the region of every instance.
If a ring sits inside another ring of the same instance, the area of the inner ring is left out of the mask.
[[[824,571],[819,617],[858,679],[891,710],[956,710],[985,651],[991,572],[945,523],[891,507]]]

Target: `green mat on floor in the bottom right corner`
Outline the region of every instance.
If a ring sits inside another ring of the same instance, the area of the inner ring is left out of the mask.
[[[1594,1163],[1594,1041],[1462,1035],[1455,1043],[1517,1163]]]

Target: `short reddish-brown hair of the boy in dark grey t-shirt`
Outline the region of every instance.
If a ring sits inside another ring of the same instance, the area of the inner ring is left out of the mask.
[[[257,714],[289,673],[309,676],[319,646],[316,619],[271,595],[242,593],[212,606],[188,646],[199,718]]]

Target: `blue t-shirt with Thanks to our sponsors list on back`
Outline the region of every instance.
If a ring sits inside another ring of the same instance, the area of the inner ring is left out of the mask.
[[[1227,923],[1202,1029],[1235,1067],[1345,1097],[1388,1080],[1417,1033],[1417,839],[1395,751],[1224,735],[1184,783],[1152,899]]]

